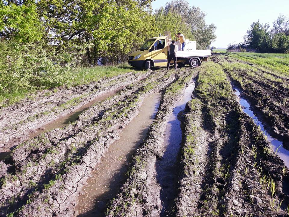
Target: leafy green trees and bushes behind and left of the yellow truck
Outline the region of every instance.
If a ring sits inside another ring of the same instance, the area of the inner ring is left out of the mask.
[[[180,0],[153,12],[151,2],[1,0],[0,97],[17,88],[59,86],[73,76],[66,74],[71,67],[125,61],[165,30],[182,32],[199,48],[216,38],[200,8]]]

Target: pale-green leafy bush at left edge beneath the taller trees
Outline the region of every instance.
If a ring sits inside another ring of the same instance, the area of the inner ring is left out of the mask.
[[[11,104],[33,90],[66,84],[71,76],[68,69],[76,64],[78,53],[44,45],[0,43],[1,105]]]

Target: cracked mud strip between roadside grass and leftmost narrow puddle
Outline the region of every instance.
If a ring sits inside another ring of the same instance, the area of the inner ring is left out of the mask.
[[[0,117],[0,148],[7,151],[7,147],[26,140],[35,129],[77,110],[101,94],[141,80],[150,73],[127,73],[89,85],[61,88],[55,93],[44,91],[35,98],[3,108]],[[48,93],[50,95],[45,96]]]

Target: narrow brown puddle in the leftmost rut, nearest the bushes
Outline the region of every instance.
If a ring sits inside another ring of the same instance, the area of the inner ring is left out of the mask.
[[[62,116],[60,118],[54,119],[53,121],[45,124],[42,127],[39,127],[35,130],[33,130],[32,132],[30,132],[27,137],[28,139],[32,139],[42,133],[45,133],[49,130],[55,129],[55,128],[61,128],[61,127],[65,127],[67,124],[69,124],[70,122],[76,121],[78,116],[82,114],[82,112],[84,112],[86,109],[88,109],[90,106],[92,106],[93,104],[95,104],[96,102],[100,102],[102,100],[107,99],[110,96],[113,96],[117,93],[119,93],[121,90],[123,90],[123,86],[120,88],[117,88],[115,90],[109,91],[107,93],[101,94],[100,96],[96,97],[95,99],[93,99],[92,101],[90,101],[89,103],[83,105],[82,107],[76,109],[75,111]],[[17,142],[18,140],[16,139],[15,142]],[[15,144],[11,144],[12,146],[4,146],[4,148],[0,149],[0,160],[4,160],[10,153],[11,150],[18,145],[18,143]]]

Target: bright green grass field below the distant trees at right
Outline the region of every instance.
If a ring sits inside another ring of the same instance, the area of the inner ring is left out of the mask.
[[[289,76],[288,54],[239,52],[228,53],[228,56]]]

